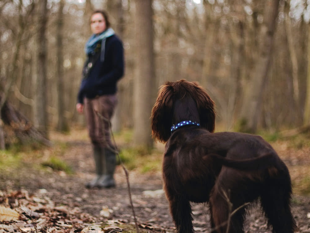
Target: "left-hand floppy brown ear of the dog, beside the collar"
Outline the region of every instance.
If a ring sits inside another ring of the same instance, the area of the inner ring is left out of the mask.
[[[172,125],[173,87],[170,82],[160,87],[158,97],[152,109],[152,136],[155,140],[166,142]]]

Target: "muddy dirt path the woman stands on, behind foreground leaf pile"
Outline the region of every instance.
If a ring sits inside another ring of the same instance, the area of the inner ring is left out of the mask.
[[[91,214],[98,222],[106,220],[102,210],[109,209],[109,219],[133,223],[126,177],[122,167],[118,166],[115,174],[117,187],[112,189],[92,189],[84,183],[93,178],[94,164],[91,156],[91,145],[85,141],[69,140],[69,149],[62,159],[70,164],[75,173],[42,171],[25,163],[18,171],[8,171],[0,176],[1,190],[18,190],[46,194],[56,205],[68,208],[78,207]],[[130,185],[135,213],[139,224],[148,225],[148,232],[174,232],[169,214],[168,202],[162,192],[160,173],[138,174],[130,171]],[[294,195],[292,211],[301,232],[310,232],[310,198]],[[101,212],[101,215],[100,215]],[[194,226],[196,232],[210,232],[210,215],[203,204],[193,204]],[[245,232],[270,233],[259,208],[250,208],[246,218]]]

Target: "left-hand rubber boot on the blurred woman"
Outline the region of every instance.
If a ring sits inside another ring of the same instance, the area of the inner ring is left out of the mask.
[[[103,149],[99,146],[93,146],[93,150],[94,150],[94,160],[95,160],[95,167],[96,167],[96,177],[95,179],[86,183],[85,185],[86,188],[97,187],[99,180],[102,179],[102,176],[106,173],[105,172],[106,165],[105,165]]]

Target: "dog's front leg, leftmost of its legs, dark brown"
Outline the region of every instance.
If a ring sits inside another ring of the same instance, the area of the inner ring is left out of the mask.
[[[168,197],[170,212],[178,233],[193,233],[192,208],[189,200],[183,196]]]

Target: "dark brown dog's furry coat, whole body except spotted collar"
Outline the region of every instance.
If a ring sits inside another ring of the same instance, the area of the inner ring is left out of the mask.
[[[151,118],[153,137],[166,142],[164,189],[177,232],[194,232],[190,202],[209,203],[212,232],[244,232],[246,203],[258,199],[272,232],[297,230],[286,165],[260,136],[213,133],[214,102],[201,86],[167,82]],[[172,125],[186,120],[200,126],[183,126],[171,134]]]

